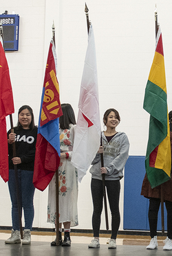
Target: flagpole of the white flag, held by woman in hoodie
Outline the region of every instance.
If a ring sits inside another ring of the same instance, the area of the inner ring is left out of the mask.
[[[90,22],[89,22],[88,12],[89,12],[89,9],[87,8],[87,4],[85,3],[85,15],[87,19],[87,30],[89,34]],[[100,138],[100,146],[102,146],[102,136]],[[100,154],[100,158],[101,158],[101,167],[104,167],[103,153]],[[107,196],[106,196],[106,189],[105,189],[105,174],[102,174],[102,180],[103,180],[103,198],[104,198],[104,205],[105,205],[105,221],[106,221],[106,228],[107,230],[109,230],[108,215],[107,215]]]

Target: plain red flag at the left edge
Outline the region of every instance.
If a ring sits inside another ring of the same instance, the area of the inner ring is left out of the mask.
[[[0,175],[7,182],[9,171],[6,116],[14,113],[14,102],[8,63],[1,42],[0,38]]]

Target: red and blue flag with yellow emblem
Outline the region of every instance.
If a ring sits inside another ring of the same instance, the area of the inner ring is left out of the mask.
[[[45,69],[34,161],[33,183],[41,191],[47,188],[60,163],[58,118],[62,115],[56,78],[56,50],[52,40]]]

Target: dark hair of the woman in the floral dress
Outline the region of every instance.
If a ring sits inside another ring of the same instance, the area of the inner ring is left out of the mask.
[[[72,109],[71,104],[63,103],[61,109],[63,111],[63,116],[59,118],[61,129],[69,129],[69,124],[76,125],[74,109]]]

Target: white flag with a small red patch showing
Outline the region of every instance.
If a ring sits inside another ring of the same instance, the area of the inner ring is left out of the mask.
[[[92,26],[89,28],[78,109],[72,165],[78,169],[78,181],[81,181],[100,147],[101,127],[98,104],[96,48]]]

